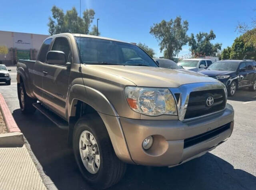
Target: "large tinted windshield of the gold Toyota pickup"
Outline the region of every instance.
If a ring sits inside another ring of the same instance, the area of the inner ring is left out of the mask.
[[[75,38],[82,63],[158,67],[138,46],[97,38]]]

